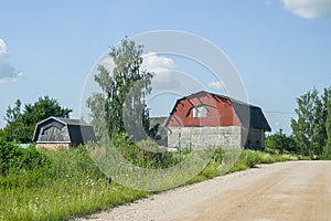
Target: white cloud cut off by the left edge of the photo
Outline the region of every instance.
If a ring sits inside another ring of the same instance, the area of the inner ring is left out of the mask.
[[[0,84],[8,82],[17,82],[22,78],[22,72],[18,72],[8,61],[9,54],[7,45],[2,39],[0,39]]]

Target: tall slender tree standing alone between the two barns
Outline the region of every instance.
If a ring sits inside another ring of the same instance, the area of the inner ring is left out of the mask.
[[[105,66],[98,66],[94,78],[102,93],[95,93],[87,99],[98,138],[104,135],[105,127],[109,137],[125,131],[137,135],[141,131],[139,128],[147,134],[151,131],[145,98],[151,93],[153,74],[141,70],[142,48],[125,38],[120,46],[110,49],[109,56],[115,63],[113,74]],[[141,139],[140,135],[138,137],[136,140]]]

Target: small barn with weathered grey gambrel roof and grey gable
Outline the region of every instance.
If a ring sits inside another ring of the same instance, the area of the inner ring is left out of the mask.
[[[49,117],[36,124],[33,141],[36,148],[72,148],[88,141],[96,141],[93,126],[63,117]]]

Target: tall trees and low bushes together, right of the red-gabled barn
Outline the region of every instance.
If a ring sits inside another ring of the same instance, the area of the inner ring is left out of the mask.
[[[280,129],[266,138],[266,148],[312,158],[331,157],[331,87],[313,88],[297,98],[297,117],[291,118],[292,134]]]

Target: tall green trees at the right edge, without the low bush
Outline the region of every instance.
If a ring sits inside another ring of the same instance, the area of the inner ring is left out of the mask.
[[[328,143],[327,119],[331,113],[328,104],[331,101],[331,87],[324,88],[322,95],[317,90],[297,98],[297,119],[291,119],[293,139],[305,156],[322,156]]]

